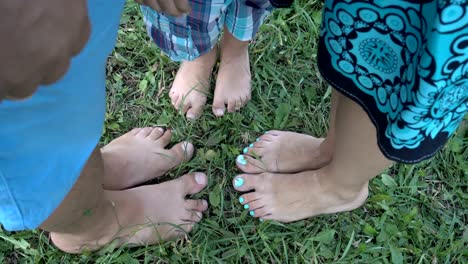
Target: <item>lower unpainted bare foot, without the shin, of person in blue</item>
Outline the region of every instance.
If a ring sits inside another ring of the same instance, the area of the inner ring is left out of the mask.
[[[96,227],[83,234],[51,233],[51,239],[65,252],[81,253],[111,242],[147,246],[183,238],[208,208],[207,201],[187,200],[185,196],[200,192],[207,181],[206,175],[195,173],[157,185],[106,191],[111,209],[96,217]]]

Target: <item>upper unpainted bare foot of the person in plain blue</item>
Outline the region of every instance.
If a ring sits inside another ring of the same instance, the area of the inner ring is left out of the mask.
[[[181,142],[171,149],[172,132],[160,127],[135,128],[101,149],[104,188],[121,190],[160,177],[190,160],[194,147]]]

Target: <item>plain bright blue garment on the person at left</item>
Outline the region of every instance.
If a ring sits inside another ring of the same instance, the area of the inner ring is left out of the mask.
[[[105,64],[124,0],[88,0],[92,35],[65,77],[24,101],[0,103],[0,224],[37,228],[59,206],[98,144]]]

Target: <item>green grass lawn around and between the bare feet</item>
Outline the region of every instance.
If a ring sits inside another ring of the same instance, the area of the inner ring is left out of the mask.
[[[178,65],[150,43],[138,9],[129,4],[108,63],[102,143],[133,127],[174,128],[174,142],[189,139],[197,153],[167,179],[205,171],[209,186],[197,197],[210,201],[209,212],[186,241],[79,256],[61,253],[38,230],[0,231],[0,262],[467,263],[466,129],[432,160],[395,165],[376,177],[368,202],[353,212],[283,225],[260,223],[238,204],[230,183],[237,173],[234,159],[247,143],[268,129],[325,134],[330,93],[315,66],[320,6],[301,0],[275,12],[251,45],[252,102],[221,119],[207,107],[192,123],[167,95]]]

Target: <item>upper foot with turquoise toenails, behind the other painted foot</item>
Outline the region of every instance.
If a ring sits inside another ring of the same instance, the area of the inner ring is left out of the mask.
[[[268,131],[244,148],[237,166],[246,173],[295,173],[327,165],[332,151],[323,138],[288,131]]]

